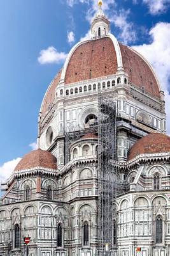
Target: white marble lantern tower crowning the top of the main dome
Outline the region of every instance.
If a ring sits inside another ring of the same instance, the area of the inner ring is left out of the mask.
[[[91,25],[92,39],[98,39],[98,38],[104,37],[110,31],[110,22],[106,18],[106,15],[104,15],[102,5],[103,5],[103,1],[99,0],[98,1],[99,7],[94,19],[92,20],[92,25]]]

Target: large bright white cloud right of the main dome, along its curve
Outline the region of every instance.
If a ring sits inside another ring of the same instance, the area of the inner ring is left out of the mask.
[[[170,134],[170,23],[157,23],[150,30],[150,36],[151,44],[136,45],[133,48],[145,56],[159,77],[160,86],[166,95],[167,133]]]

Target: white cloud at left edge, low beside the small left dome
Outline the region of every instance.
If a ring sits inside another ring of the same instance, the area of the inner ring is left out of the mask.
[[[8,161],[4,163],[2,166],[0,166],[0,180],[6,180],[10,177],[11,173],[15,169],[15,166],[19,163],[21,160],[20,157],[13,159],[11,161]]]

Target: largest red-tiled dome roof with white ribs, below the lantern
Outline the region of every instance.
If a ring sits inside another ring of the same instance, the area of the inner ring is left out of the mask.
[[[99,77],[120,74],[123,70],[129,83],[160,99],[160,87],[150,64],[129,46],[120,44],[115,36],[108,35],[96,40],[79,42],[67,55],[64,67],[48,87],[41,105],[45,115],[55,100],[55,90]]]

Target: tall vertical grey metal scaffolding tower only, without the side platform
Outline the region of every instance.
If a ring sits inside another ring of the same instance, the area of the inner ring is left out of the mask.
[[[117,109],[111,99],[98,93],[98,237],[99,255],[113,255],[116,250]],[[114,164],[115,163],[115,164]]]

